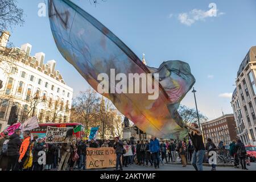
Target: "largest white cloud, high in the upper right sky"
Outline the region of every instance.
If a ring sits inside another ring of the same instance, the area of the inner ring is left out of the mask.
[[[178,19],[180,23],[191,26],[196,21],[205,21],[205,19],[213,16],[220,16],[225,13],[218,13],[218,10],[210,9],[209,11],[193,9],[188,13],[180,13]]]

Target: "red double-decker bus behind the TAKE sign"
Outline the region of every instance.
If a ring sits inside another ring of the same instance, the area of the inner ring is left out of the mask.
[[[40,123],[39,128],[33,129],[31,131],[33,137],[38,136],[39,138],[44,138],[46,137],[46,131],[47,131],[47,126],[51,127],[73,127],[75,129],[77,126],[82,126],[84,127],[81,123]],[[73,136],[76,138],[83,138],[85,137],[84,130],[81,130],[77,133],[73,133]]]

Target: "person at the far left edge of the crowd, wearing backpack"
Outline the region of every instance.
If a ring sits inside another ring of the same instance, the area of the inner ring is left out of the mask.
[[[9,133],[5,131],[3,138],[0,140],[0,168],[5,171],[8,164],[7,149],[9,142]]]

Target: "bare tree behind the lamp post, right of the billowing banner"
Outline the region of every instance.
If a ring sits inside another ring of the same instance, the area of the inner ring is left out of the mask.
[[[191,109],[187,106],[181,105],[178,109],[180,117],[183,119],[185,124],[187,123],[198,123],[197,112],[196,109]],[[199,121],[203,123],[207,121],[207,117],[201,113],[199,113]]]

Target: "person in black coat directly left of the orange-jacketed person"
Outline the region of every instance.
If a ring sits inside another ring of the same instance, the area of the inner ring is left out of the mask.
[[[14,134],[10,136],[10,140],[8,142],[8,148],[7,148],[7,156],[8,156],[8,165],[7,165],[7,171],[18,171],[19,166],[18,159],[19,159],[19,148],[22,144],[20,140],[20,134],[21,130],[16,129],[14,131]]]

